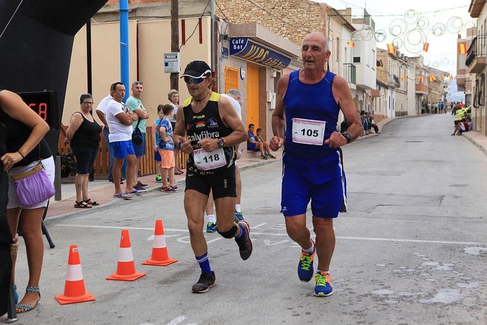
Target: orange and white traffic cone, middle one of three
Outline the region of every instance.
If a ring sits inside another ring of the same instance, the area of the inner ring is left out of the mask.
[[[120,238],[120,250],[118,251],[117,271],[107,280],[133,281],[143,277],[146,273],[137,272],[133,262],[132,248],[130,245],[129,230],[122,230]]]

